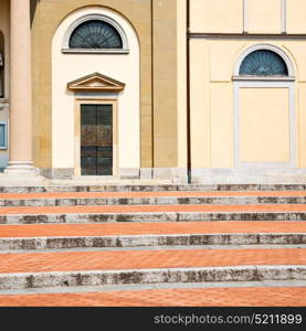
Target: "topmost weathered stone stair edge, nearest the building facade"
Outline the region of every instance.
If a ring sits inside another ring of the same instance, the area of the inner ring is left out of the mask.
[[[0,186],[0,193],[41,192],[145,192],[145,191],[305,191],[306,184],[126,184],[126,185],[42,185]]]

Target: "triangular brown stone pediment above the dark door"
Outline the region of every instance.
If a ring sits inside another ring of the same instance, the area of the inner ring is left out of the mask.
[[[85,77],[81,77],[67,84],[67,88],[75,92],[120,92],[125,88],[125,84],[94,73]]]

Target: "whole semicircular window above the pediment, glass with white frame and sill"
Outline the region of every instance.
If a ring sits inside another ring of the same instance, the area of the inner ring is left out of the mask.
[[[112,18],[89,14],[76,20],[67,30],[63,53],[128,53],[123,28]]]

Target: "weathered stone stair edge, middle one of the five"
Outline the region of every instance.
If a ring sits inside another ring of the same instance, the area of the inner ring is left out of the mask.
[[[306,212],[156,212],[0,215],[0,224],[187,221],[306,221]]]

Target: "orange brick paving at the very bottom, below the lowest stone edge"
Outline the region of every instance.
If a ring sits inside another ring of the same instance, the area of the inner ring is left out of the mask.
[[[305,287],[158,289],[0,296],[1,307],[305,307]]]

